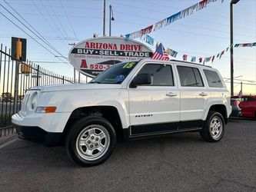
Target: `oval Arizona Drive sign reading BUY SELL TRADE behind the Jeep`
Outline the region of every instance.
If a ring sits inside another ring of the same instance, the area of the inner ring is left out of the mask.
[[[71,48],[68,58],[78,71],[94,78],[111,65],[151,58],[152,55],[151,49],[138,41],[103,37],[79,42]]]

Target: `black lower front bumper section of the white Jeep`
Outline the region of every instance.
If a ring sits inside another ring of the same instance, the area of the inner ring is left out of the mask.
[[[43,143],[48,146],[61,144],[62,133],[47,132],[40,127],[19,126],[17,124],[14,124],[14,126],[18,137],[21,139]]]

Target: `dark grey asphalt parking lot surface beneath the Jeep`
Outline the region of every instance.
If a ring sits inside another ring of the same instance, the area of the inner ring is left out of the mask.
[[[15,139],[0,149],[0,190],[256,191],[256,121],[231,120],[214,144],[198,133],[118,143],[96,167]]]

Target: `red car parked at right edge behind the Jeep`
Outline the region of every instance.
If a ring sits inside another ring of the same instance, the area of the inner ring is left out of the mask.
[[[238,98],[237,96],[232,98]],[[241,117],[256,118],[256,96],[243,95],[239,104]]]

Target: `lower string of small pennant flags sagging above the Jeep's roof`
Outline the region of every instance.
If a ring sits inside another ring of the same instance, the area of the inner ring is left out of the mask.
[[[146,42],[148,42],[147,41],[147,38],[143,38]],[[151,41],[150,41],[150,43],[148,43],[148,44],[150,44],[150,45],[154,45],[154,41],[155,41],[155,39],[154,38],[152,38],[151,36],[149,36],[148,35],[148,39],[151,39]],[[151,44],[151,42],[153,42],[153,44]],[[241,43],[241,44],[234,44],[234,45],[231,45],[231,46],[233,46],[234,48],[241,48],[241,47],[243,47],[243,48],[245,48],[245,47],[256,47],[256,42],[253,42],[253,43]],[[198,57],[198,62],[199,63],[203,63],[203,64],[205,64],[205,63],[207,63],[207,62],[209,62],[209,61],[211,61],[211,63],[213,63],[214,62],[214,60],[215,59],[221,59],[221,57],[224,55],[224,53],[225,52],[227,52],[229,49],[230,49],[230,47],[231,46],[229,46],[228,48],[225,48],[224,50],[222,50],[222,51],[220,51],[217,55],[212,55],[212,56],[210,56],[210,57]],[[163,45],[160,43],[160,45],[159,45],[159,43],[157,42],[156,43],[156,51],[155,52],[157,52],[158,51],[158,53],[164,53],[165,55],[167,54],[167,55],[169,55],[169,56],[171,56],[171,57],[173,57],[173,58],[176,58],[177,57],[177,55],[178,55],[178,51],[174,51],[174,50],[172,50],[171,48],[164,48],[163,47]],[[161,50],[163,50],[163,51],[159,51],[158,49],[159,48],[161,48]],[[190,59],[188,59],[188,58],[190,58]],[[155,58],[155,59],[159,59],[159,58]],[[184,54],[184,55],[182,55],[182,59],[183,59],[183,61],[191,61],[191,62],[196,62],[197,61],[197,57],[195,57],[195,56],[193,56],[193,55],[187,55],[187,54]],[[166,57],[165,57],[165,60],[166,60]]]

